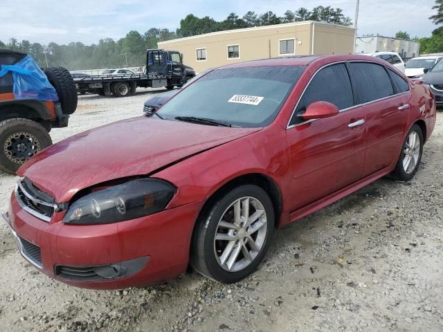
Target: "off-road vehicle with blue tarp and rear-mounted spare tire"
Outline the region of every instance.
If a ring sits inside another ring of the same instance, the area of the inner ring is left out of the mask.
[[[68,125],[77,91],[66,68],[42,71],[32,57],[0,50],[0,170],[15,174],[52,144],[49,131]]]

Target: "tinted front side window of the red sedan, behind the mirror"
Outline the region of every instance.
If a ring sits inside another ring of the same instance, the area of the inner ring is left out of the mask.
[[[316,73],[300,98],[289,125],[303,122],[298,115],[305,112],[309,104],[320,101],[331,102],[338,109],[354,106],[351,81],[345,64],[327,66]]]

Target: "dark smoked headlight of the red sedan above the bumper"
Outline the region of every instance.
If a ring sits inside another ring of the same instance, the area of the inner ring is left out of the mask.
[[[156,178],[140,178],[92,192],[75,201],[64,223],[117,223],[165,210],[175,187]]]

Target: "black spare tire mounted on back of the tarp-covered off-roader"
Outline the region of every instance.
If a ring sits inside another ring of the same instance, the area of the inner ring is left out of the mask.
[[[49,67],[44,71],[48,81],[57,91],[58,100],[62,104],[64,114],[72,114],[77,109],[77,89],[71,73],[63,67]]]

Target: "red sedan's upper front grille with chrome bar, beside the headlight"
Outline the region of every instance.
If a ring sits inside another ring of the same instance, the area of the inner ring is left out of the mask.
[[[26,178],[17,183],[15,196],[21,208],[44,221],[51,221],[55,211],[52,196],[42,192]]]

